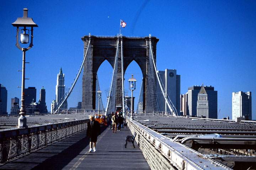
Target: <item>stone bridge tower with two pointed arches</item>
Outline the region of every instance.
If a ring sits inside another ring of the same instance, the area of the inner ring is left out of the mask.
[[[82,78],[82,108],[95,109],[96,74],[100,65],[107,60],[114,67],[114,58],[117,48],[117,36],[91,36],[90,48],[84,63],[84,73]],[[124,73],[129,64],[134,60],[138,63],[143,74],[143,110],[153,111],[150,98],[147,94],[152,93],[152,87],[148,82],[149,68],[149,37],[122,37],[123,40],[123,62]],[[156,44],[159,39],[151,37],[154,57],[156,57]],[[82,37],[84,42],[84,53],[86,53],[89,43],[89,36]],[[121,42],[119,41],[119,45]],[[119,48],[120,49],[120,48]],[[156,58],[155,58],[156,59]],[[116,84],[116,106],[122,106],[122,70],[121,70],[121,50],[118,55],[118,70]],[[150,75],[154,76],[155,75]],[[124,80],[126,81],[126,80]],[[150,87],[150,88],[149,88]]]

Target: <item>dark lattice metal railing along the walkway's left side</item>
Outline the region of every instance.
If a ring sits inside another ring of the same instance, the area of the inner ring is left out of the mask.
[[[89,119],[0,131],[0,162],[86,130]]]

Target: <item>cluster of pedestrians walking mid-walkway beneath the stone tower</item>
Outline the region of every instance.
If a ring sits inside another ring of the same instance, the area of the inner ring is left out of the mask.
[[[112,112],[112,117],[111,117],[111,124],[110,127],[113,130],[113,133],[116,133],[116,131],[120,131],[121,128],[123,128],[123,113],[122,112]]]

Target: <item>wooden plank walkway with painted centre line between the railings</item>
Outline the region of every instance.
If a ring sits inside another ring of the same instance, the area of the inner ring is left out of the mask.
[[[6,170],[92,170],[140,169],[149,170],[138,145],[134,142],[124,148],[125,137],[131,135],[127,128],[113,133],[108,127],[98,136],[97,151],[89,153],[89,140],[85,131],[25,156],[0,164]]]

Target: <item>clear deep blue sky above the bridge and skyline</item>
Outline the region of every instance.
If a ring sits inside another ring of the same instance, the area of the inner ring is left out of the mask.
[[[117,35],[123,19],[127,22],[124,36],[159,38],[158,69],[177,69],[181,94],[192,85],[214,86],[218,118],[222,118],[232,115],[232,92],[251,91],[252,118],[256,119],[256,1],[1,1],[0,83],[8,90],[7,112],[11,98],[21,94],[17,70],[21,69],[22,52],[15,46],[16,29],[11,23],[22,17],[24,7],[39,26],[34,28],[34,46],[26,55],[30,62],[26,87],[37,88],[37,100],[39,89],[45,87],[48,110],[60,67],[67,87],[74,80],[83,57],[81,37]],[[110,85],[111,72],[107,62],[98,70],[102,91]],[[134,62],[126,80],[132,73],[138,80],[142,78]],[[102,97],[106,97],[104,93]]]

